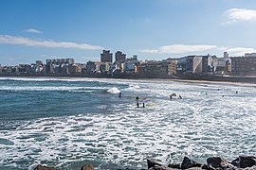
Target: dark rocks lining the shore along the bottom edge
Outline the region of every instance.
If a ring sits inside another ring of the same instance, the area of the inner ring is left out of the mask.
[[[190,170],[256,170],[256,156],[239,156],[233,161],[227,161],[220,157],[210,157],[206,163],[202,164],[196,161],[192,161],[188,157],[184,157],[181,163],[170,163],[168,165],[161,164],[157,161],[147,160],[148,170],[176,170],[176,169],[190,169]],[[47,167],[38,165],[34,170],[61,170],[55,167]],[[91,164],[85,164],[81,170],[94,170],[94,166]],[[119,170],[132,170],[129,168]],[[145,170],[145,169],[140,169]]]

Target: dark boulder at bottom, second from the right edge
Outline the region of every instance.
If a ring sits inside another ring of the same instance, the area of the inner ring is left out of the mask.
[[[211,157],[207,159],[208,169],[234,169],[234,166],[220,157]]]

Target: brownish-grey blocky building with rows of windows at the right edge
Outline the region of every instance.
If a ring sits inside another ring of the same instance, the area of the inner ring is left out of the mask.
[[[234,76],[256,76],[256,57],[232,57],[231,74]]]

